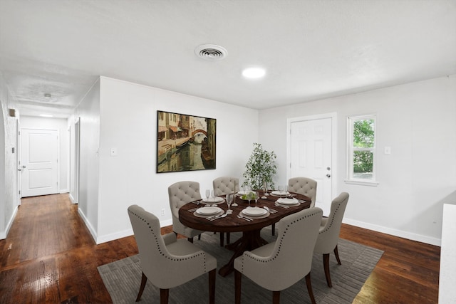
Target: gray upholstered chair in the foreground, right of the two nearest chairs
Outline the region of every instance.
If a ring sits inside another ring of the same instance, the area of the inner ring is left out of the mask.
[[[235,303],[241,303],[242,275],[262,288],[272,290],[273,303],[279,303],[281,290],[305,277],[309,297],[315,303],[311,267],[321,216],[323,211],[320,208],[304,209],[285,216],[277,224],[279,235],[275,242],[244,251],[234,260]]]

